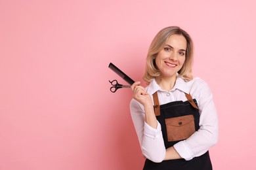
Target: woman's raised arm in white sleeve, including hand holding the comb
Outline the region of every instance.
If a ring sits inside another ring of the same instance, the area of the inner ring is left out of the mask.
[[[133,98],[130,103],[131,117],[139,139],[142,154],[148,160],[161,162],[165,158],[165,145],[161,125],[156,119],[152,98],[142,86],[131,86]]]

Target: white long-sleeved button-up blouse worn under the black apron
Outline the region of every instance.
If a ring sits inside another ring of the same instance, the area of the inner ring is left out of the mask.
[[[205,81],[200,78],[194,78],[185,82],[182,78],[177,78],[173,89],[167,92],[160,88],[156,80],[152,79],[146,90],[151,97],[153,93],[158,92],[160,105],[172,101],[186,101],[184,92],[190,93],[192,98],[196,99],[200,112],[200,129],[188,139],[180,141],[173,146],[184,160],[188,161],[194,157],[201,156],[217,143],[217,110],[215,109],[211,90]],[[144,107],[135,99],[131,100],[130,110],[142,154],[151,161],[163,161],[165,158],[165,146],[160,123],[158,122],[156,129],[146,124]]]

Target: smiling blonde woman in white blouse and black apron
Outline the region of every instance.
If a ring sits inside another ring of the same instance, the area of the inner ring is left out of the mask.
[[[143,79],[135,82],[130,110],[144,169],[212,169],[209,148],[218,140],[211,90],[192,76],[193,42],[179,27],[153,39]]]

